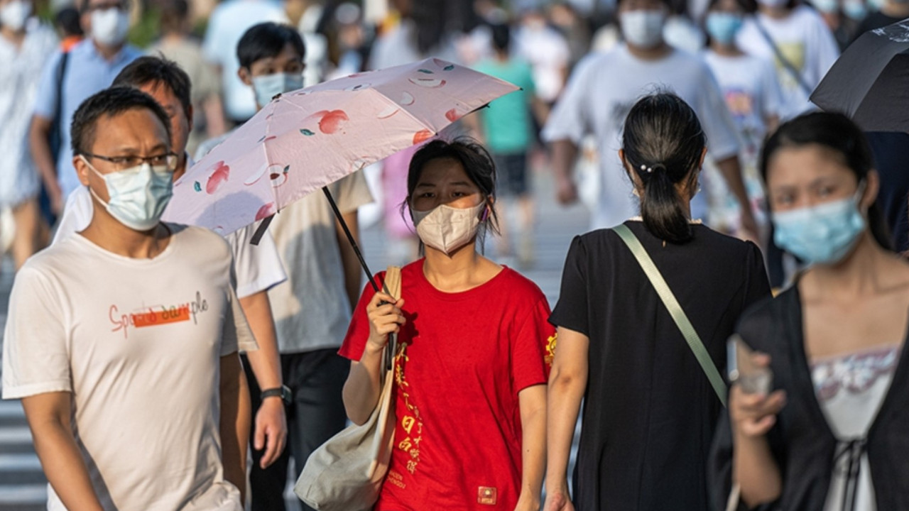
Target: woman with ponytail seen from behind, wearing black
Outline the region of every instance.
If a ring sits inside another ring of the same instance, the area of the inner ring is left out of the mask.
[[[640,197],[623,225],[643,245],[722,373],[744,309],[770,295],[760,250],[690,218],[706,140],[676,95],[629,112],[618,157]],[[673,316],[614,229],[574,238],[550,322],[545,511],[708,509],[706,460],[720,399]],[[710,361],[707,361],[708,363]],[[569,497],[567,466],[584,399]]]

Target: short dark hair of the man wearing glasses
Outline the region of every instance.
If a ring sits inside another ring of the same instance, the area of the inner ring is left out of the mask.
[[[95,127],[102,115],[120,115],[138,108],[147,108],[155,114],[165,126],[167,143],[170,144],[170,123],[164,108],[158,105],[155,98],[133,87],[111,87],[90,96],[76,109],[73,124],[70,125],[73,154],[91,152],[92,145],[95,145]]]

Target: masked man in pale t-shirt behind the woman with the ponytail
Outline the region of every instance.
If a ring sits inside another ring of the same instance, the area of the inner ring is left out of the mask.
[[[744,235],[757,236],[738,161],[739,142],[719,85],[704,62],[667,45],[663,27],[669,5],[663,0],[621,0],[619,24],[624,45],[584,57],[543,131],[552,145],[557,195],[562,204],[577,200],[573,180],[577,146],[593,132],[599,150],[601,185],[591,228],[612,227],[638,215],[632,185],[617,152],[625,116],[634,102],[666,88],[694,109],[709,141],[708,150],[730,191],[742,206]],[[652,162],[653,164],[664,162]],[[692,217],[706,215],[703,194],[692,200]]]

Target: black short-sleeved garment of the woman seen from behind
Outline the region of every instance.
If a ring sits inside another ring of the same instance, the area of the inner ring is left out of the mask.
[[[694,239],[641,240],[724,373],[725,342],[745,307],[770,295],[752,243],[694,225]],[[706,460],[721,409],[644,270],[612,230],[577,236],[550,322],[590,338],[574,474],[578,511],[709,509]]]

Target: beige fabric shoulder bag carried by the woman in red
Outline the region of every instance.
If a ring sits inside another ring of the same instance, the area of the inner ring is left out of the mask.
[[[401,268],[388,266],[385,291],[401,297]],[[317,448],[303,467],[294,493],[319,511],[368,511],[379,497],[395,443],[396,336],[383,354],[382,393],[363,426],[348,426]]]

